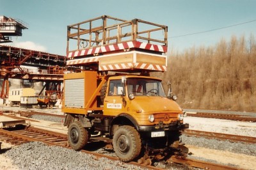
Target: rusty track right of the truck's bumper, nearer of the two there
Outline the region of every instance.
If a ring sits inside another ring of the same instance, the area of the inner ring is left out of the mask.
[[[241,142],[241,143],[251,143],[256,144],[256,137],[244,136],[244,135],[232,135],[232,134],[222,134],[217,132],[205,132],[200,130],[191,130],[186,129],[183,134],[188,136],[196,136],[196,137],[205,137],[207,139],[220,139],[220,140],[228,140],[232,142]]]

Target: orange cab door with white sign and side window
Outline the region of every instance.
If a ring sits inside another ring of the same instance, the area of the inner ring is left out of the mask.
[[[121,80],[110,80],[104,99],[104,115],[116,116],[125,111],[123,104],[124,86]]]

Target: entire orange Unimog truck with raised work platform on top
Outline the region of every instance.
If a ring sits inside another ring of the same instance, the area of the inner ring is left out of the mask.
[[[68,26],[67,66],[81,70],[64,75],[62,111],[74,150],[92,139],[113,144],[124,162],[184,156],[184,112],[150,77],[166,71],[167,29],[106,15]]]

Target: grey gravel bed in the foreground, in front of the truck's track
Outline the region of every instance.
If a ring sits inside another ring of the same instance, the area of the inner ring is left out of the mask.
[[[13,164],[20,169],[141,169],[138,166],[124,164],[108,158],[97,158],[79,151],[68,150],[59,146],[47,146],[33,142],[4,153],[12,158]]]

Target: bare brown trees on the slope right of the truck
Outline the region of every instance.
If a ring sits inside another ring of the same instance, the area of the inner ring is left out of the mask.
[[[184,108],[256,111],[256,42],[253,35],[221,40],[214,47],[191,48],[168,56],[168,71]],[[166,87],[164,87],[166,88]]]

